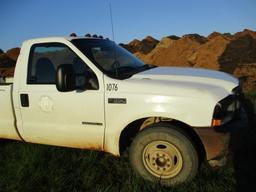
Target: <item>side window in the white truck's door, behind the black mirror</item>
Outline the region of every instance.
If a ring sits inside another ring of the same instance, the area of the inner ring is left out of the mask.
[[[90,68],[66,45],[42,43],[31,48],[27,84],[55,84],[56,69],[61,64],[73,64],[77,87],[85,84],[84,75],[91,74],[96,78]]]

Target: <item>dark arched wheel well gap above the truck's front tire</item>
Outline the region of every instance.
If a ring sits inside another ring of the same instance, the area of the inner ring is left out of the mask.
[[[199,160],[202,162],[205,159],[206,152],[204,145],[197,135],[197,133],[193,130],[193,128],[183,122],[178,120],[163,118],[163,117],[148,117],[138,119],[128,124],[122,131],[119,139],[119,152],[122,155],[125,150],[131,145],[133,138],[145,127],[153,123],[165,122],[171,125],[174,125],[181,129],[182,132],[186,133],[187,136],[193,141],[196,150],[199,155]]]

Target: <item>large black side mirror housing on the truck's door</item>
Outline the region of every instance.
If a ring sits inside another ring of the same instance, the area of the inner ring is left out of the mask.
[[[76,90],[76,77],[72,64],[58,66],[56,71],[56,88],[60,92]]]

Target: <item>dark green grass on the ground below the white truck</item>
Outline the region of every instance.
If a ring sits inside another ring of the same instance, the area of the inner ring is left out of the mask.
[[[0,191],[234,191],[230,165],[212,169],[203,164],[196,178],[166,188],[144,181],[132,171],[127,157],[36,145],[0,143]]]

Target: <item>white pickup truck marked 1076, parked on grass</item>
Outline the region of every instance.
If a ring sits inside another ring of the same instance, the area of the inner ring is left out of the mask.
[[[224,154],[239,94],[231,75],[147,65],[102,37],[32,39],[1,81],[0,138],[129,149],[139,175],[172,185]]]

